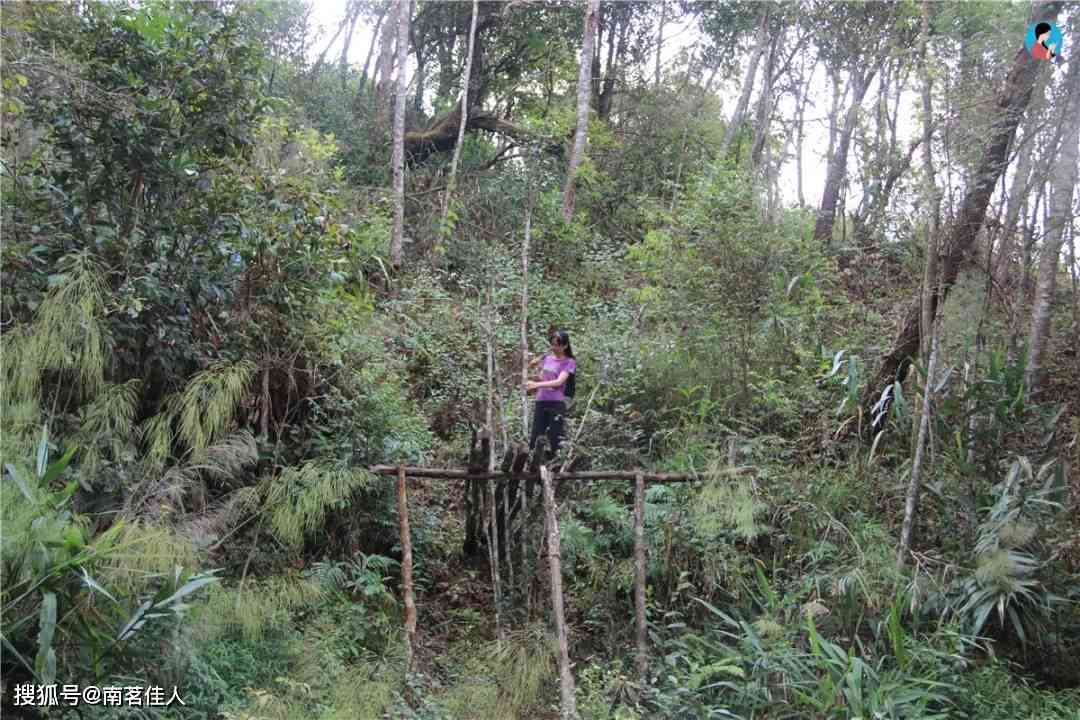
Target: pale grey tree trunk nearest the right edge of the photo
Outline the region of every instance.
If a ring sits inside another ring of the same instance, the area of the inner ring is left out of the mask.
[[[1071,46],[1080,42],[1080,24],[1075,24]],[[1069,74],[1065,81],[1065,111],[1061,117],[1064,125],[1061,149],[1054,157],[1051,169],[1051,192],[1047,201],[1048,222],[1043,227],[1044,240],[1039,254],[1039,281],[1035,288],[1031,309],[1031,332],[1028,338],[1027,367],[1024,384],[1030,394],[1038,389],[1041,380],[1042,354],[1050,327],[1050,309],[1054,300],[1057,283],[1057,267],[1061,260],[1065,228],[1072,222],[1072,189],[1077,182],[1077,167],[1080,163],[1080,63],[1069,63]]]

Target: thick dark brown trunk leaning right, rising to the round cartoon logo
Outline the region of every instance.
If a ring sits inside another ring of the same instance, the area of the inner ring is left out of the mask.
[[[1061,10],[1061,2],[1049,2],[1037,5],[1032,22],[1053,21]],[[1031,99],[1031,91],[1039,70],[1040,60],[1031,57],[1026,49],[1021,47],[1013,58],[1012,68],[1004,79],[994,101],[996,122],[987,144],[986,152],[980,162],[974,182],[964,193],[959,217],[951,223],[947,242],[942,246],[947,253],[942,258],[940,285],[934,289],[931,303],[936,308],[945,301],[948,293],[960,272],[960,263],[974,243],[975,235],[986,215],[986,206],[994,192],[994,186],[1004,171],[1009,160],[1009,146],[1016,134],[1016,126]],[[882,358],[881,367],[873,384],[878,392],[906,369],[910,358],[919,351],[921,323],[921,302],[916,302],[908,309],[904,326],[892,349]],[[868,397],[875,396],[872,391]]]

